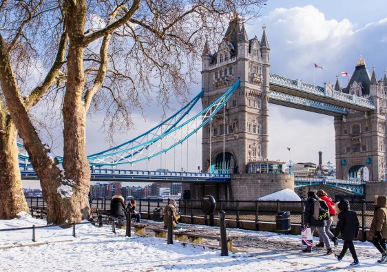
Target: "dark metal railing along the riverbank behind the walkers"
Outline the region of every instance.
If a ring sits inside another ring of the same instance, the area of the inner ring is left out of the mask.
[[[44,217],[47,205],[41,197],[26,197],[28,205],[31,209],[31,213],[34,216]],[[159,219],[154,218],[154,211],[157,208],[165,207],[170,199],[162,198],[139,198],[136,199],[137,207],[143,218],[147,219]],[[259,230],[259,222],[272,222],[275,223],[275,216],[280,211],[290,211],[291,224],[298,226],[304,225],[304,211],[305,202],[302,201],[246,201],[246,200],[217,200],[216,209],[214,211],[214,218],[218,218],[219,211],[226,212],[226,221],[231,220],[236,222],[236,227],[242,227],[241,222],[253,222],[255,223],[255,229]],[[373,202],[365,200],[349,200],[351,209],[357,213],[359,218],[360,227],[363,230],[369,229],[373,218],[374,205]],[[209,218],[202,211],[202,200],[176,200],[177,210],[180,211],[181,216],[186,218],[185,222],[197,223],[196,218],[202,218],[207,224]],[[109,198],[94,198],[92,202],[92,209],[100,213],[109,213],[110,199]],[[333,221],[333,226],[337,224],[337,216]]]

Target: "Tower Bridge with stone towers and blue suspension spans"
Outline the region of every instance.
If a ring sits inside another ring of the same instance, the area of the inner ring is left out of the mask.
[[[185,189],[193,191],[192,196],[205,193],[205,183],[233,183],[233,180],[240,180],[236,175],[248,174],[250,163],[269,159],[269,103],[273,103],[334,116],[335,126],[337,180],[294,180],[293,176],[285,175],[277,177],[281,180],[278,182],[282,184],[280,187],[320,182],[364,194],[364,181],[385,180],[386,72],[384,78],[378,81],[375,69],[370,76],[364,59],[360,58],[347,87],[342,87],[338,79],[335,86],[327,83],[320,87],[271,73],[269,55],[269,41],[264,28],[260,40],[257,36],[249,39],[243,23],[238,19],[230,21],[224,39],[215,51],[211,52],[209,43],[205,43],[202,52],[202,92],[176,114],[144,134],[88,156],[92,179],[187,182],[191,185]],[[198,101],[202,102],[202,111],[189,117],[189,112]],[[200,129],[202,173],[102,171],[103,168],[133,165],[165,154],[189,137],[197,137]],[[19,147],[22,178],[32,178],[28,154],[23,153],[22,145]],[[61,163],[63,158],[56,158]],[[242,178],[249,179],[247,176]],[[275,180],[265,178],[272,182]],[[361,182],[351,182],[348,178],[357,178]],[[242,186],[242,181],[238,182],[238,186]],[[255,186],[255,183],[244,182],[247,195],[252,190],[249,186]],[[196,187],[200,186],[201,193],[198,193]],[[233,194],[232,186],[227,185],[222,190],[227,196]],[[234,191],[238,191],[238,188],[234,188]]]

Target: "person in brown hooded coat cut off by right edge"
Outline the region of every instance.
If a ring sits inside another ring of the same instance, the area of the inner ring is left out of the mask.
[[[375,211],[367,240],[372,242],[381,253],[381,259],[377,262],[387,262],[386,238],[387,238],[387,196],[375,196]]]

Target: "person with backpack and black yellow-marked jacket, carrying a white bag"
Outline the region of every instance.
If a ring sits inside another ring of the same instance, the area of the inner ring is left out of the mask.
[[[325,201],[318,198],[314,191],[309,191],[308,200],[306,200],[305,203],[304,222],[307,227],[311,228],[312,233],[315,229],[319,231],[320,236],[322,236],[322,240],[324,241],[326,255],[332,254],[331,244],[325,232],[326,221],[328,218],[329,209]],[[312,246],[306,246],[302,251],[312,252]]]

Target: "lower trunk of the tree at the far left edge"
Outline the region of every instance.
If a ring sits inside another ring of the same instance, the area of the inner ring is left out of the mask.
[[[0,114],[1,116],[1,114]],[[17,130],[12,121],[6,125],[5,116],[0,121],[0,219],[30,213],[23,193],[17,148]]]

